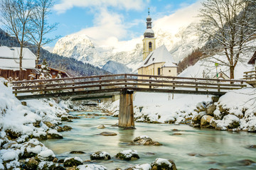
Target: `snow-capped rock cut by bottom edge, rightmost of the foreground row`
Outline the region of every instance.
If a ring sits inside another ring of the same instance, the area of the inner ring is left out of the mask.
[[[176,165],[172,160],[162,159],[162,158],[156,158],[156,160],[151,164],[151,167],[152,167],[151,170],[159,170],[159,169],[177,170]]]

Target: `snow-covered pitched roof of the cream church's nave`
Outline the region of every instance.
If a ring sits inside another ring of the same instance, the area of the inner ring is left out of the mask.
[[[161,45],[160,47],[156,48],[156,50],[150,52],[140,67],[147,67],[151,64],[159,62],[165,62],[163,67],[177,67],[176,64],[174,64],[175,62],[173,57],[166,49],[165,45]]]

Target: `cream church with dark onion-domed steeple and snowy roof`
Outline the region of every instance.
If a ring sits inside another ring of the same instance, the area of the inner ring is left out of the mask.
[[[146,31],[143,41],[143,62],[138,74],[154,76],[177,76],[177,66],[165,45],[156,48],[156,38],[152,30],[151,17],[146,18]]]

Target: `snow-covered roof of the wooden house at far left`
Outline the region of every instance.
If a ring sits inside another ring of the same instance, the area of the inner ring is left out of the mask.
[[[0,47],[0,69],[19,69],[19,54],[21,47]],[[36,55],[28,48],[23,48],[23,69],[35,69],[36,68]]]

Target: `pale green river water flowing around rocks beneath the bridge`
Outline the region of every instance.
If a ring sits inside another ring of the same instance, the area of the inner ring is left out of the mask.
[[[100,111],[84,112],[101,114]],[[78,115],[80,113],[70,113]],[[256,164],[245,166],[240,162],[250,159],[256,162],[256,149],[248,149],[256,145],[256,134],[248,132],[226,132],[208,129],[191,128],[188,125],[135,123],[136,130],[122,130],[112,127],[118,122],[110,116],[75,119],[69,125],[73,130],[62,132],[63,140],[46,140],[43,143],[53,149],[58,159],[80,157],[83,161],[90,159],[90,154],[97,151],[109,152],[112,159],[96,161],[107,169],[117,167],[125,169],[134,164],[154,162],[158,157],[173,159],[178,170],[181,169],[256,169]],[[105,129],[97,129],[105,125]],[[174,131],[177,129],[178,131]],[[116,132],[117,136],[98,135],[101,132]],[[179,133],[179,135],[174,135]],[[135,137],[148,135],[162,146],[127,145]],[[140,159],[127,162],[115,159],[114,155],[125,149],[135,149]],[[85,154],[70,154],[71,151],[83,151]],[[89,162],[85,163],[89,164]]]

